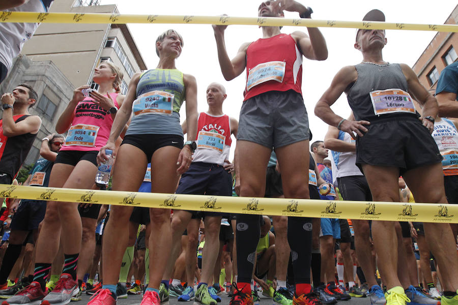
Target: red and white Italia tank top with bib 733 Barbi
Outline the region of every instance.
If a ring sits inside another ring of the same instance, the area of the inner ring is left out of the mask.
[[[231,126],[227,115],[213,116],[206,112],[199,114],[197,123],[197,149],[192,162],[224,164],[231,148]]]

